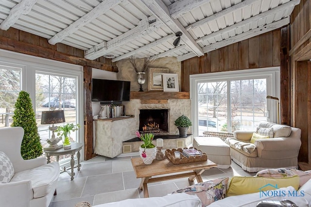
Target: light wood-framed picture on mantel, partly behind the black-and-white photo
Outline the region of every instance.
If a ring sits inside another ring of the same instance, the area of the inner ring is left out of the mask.
[[[148,91],[163,91],[162,74],[169,68],[149,68]]]

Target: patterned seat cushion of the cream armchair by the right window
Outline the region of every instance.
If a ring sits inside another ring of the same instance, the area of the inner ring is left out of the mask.
[[[257,157],[257,150],[256,146],[253,143],[248,142],[241,142],[239,140],[236,140],[234,138],[227,138],[225,142],[232,148],[238,150],[242,154],[248,156],[248,157]]]

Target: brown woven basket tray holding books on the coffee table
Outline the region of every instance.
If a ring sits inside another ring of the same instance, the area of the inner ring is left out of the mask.
[[[190,147],[193,148],[193,147]],[[184,149],[188,149],[185,147]],[[194,148],[196,149],[196,148]],[[183,163],[189,163],[189,162],[200,162],[200,161],[206,161],[207,160],[207,154],[203,152],[203,155],[196,155],[196,156],[190,156],[187,158],[186,156],[182,155],[180,153],[180,158],[176,158],[174,152],[179,151],[182,152],[182,148],[178,149],[167,149],[165,150],[165,156],[173,162],[173,164],[183,164]],[[198,150],[202,152],[201,150]]]

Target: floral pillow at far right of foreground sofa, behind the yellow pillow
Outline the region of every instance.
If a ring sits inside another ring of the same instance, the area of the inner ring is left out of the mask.
[[[291,177],[299,176],[299,188],[311,179],[311,170],[301,171],[291,168],[264,169],[259,171],[257,177]]]

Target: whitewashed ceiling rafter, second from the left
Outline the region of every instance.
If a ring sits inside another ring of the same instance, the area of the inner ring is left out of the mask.
[[[86,15],[80,17],[77,21],[70,24],[64,30],[55,34],[51,39],[49,39],[49,43],[51,45],[55,45],[56,43],[61,42],[63,39],[68,37],[70,34],[76,32],[86,24],[90,23],[92,20],[96,19],[98,16],[103,15],[111,8],[115,7],[119,3],[124,0],[103,0],[100,4],[98,4],[94,9],[88,12]]]

